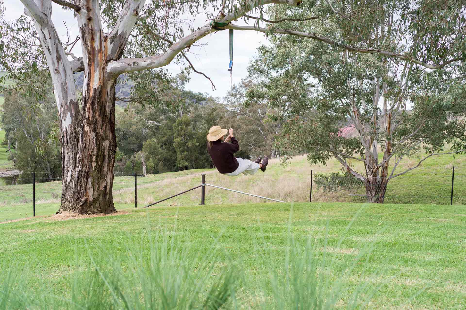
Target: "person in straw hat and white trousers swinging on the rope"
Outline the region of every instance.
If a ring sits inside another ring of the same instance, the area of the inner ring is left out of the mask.
[[[235,158],[233,154],[240,150],[240,145],[233,136],[233,129],[231,128],[229,130],[230,134],[223,140],[227,132],[228,130],[222,129],[220,126],[213,126],[207,134],[207,151],[220,173],[235,177],[240,173],[254,175],[259,169],[261,171],[267,169],[267,156],[263,160],[259,157],[255,161]],[[227,143],[229,141],[231,143]]]

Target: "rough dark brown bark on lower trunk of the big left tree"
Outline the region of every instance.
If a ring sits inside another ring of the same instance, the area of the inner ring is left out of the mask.
[[[115,135],[115,82],[96,88],[83,97],[74,162],[63,157],[62,205],[59,212],[111,213]],[[63,145],[73,148],[75,141]]]

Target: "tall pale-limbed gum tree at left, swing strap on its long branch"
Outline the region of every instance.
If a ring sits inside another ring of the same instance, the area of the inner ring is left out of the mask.
[[[189,63],[184,50],[186,48],[189,50],[190,46],[198,40],[217,30],[229,28],[254,30],[266,34],[281,33],[322,41],[351,52],[376,53],[407,60],[431,69],[441,68],[464,58],[463,55],[457,53],[447,53],[436,59],[426,58],[424,55],[416,58],[414,53],[397,53],[396,50],[384,50],[383,46],[367,45],[362,41],[331,39],[315,32],[299,31],[296,25],[289,29],[260,26],[259,21],[270,25],[280,25],[281,22],[287,21],[286,18],[280,21],[265,20],[262,14],[265,5],[296,7],[301,4],[301,0],[223,0],[218,1],[219,3],[209,0],[166,0],[163,2],[154,0],[147,3],[145,0],[73,0],[71,2],[54,0],[62,7],[72,10],[77,20],[80,33],[79,44],[82,49],[82,58],[77,58],[69,52],[77,41],[62,42],[57,34],[51,19],[51,1],[21,0],[21,2],[25,7],[26,15],[34,24],[34,30],[31,30],[32,35],[29,37],[33,39],[33,42],[35,38],[38,39],[41,53],[46,59],[46,67],[54,84],[60,117],[63,184],[62,205],[59,212],[110,213],[115,211],[112,201],[112,185],[117,147],[115,86],[118,77],[121,74],[138,71],[146,73],[134,75],[136,80],[140,76],[151,77],[152,69],[162,68],[174,59],[185,58]],[[310,12],[310,8],[320,7],[319,13],[322,17],[306,16],[293,21],[308,22],[311,19],[336,18],[342,20],[344,27],[358,22],[361,25],[364,24],[364,20],[358,21],[357,15],[345,13],[353,9],[351,7],[339,8],[336,3],[332,5],[328,0],[322,1],[321,4],[312,0],[305,3],[304,8],[297,11],[298,13],[306,15]],[[427,7],[432,8],[432,5],[429,4]],[[342,11],[338,11],[340,9]],[[423,14],[435,13],[441,9],[426,9]],[[210,11],[218,13],[209,13]],[[259,16],[247,15],[251,11],[258,12]],[[207,19],[213,22],[206,23],[197,29],[190,27],[191,33],[185,34],[183,27],[180,26],[182,14],[194,16],[197,13],[206,13]],[[232,23],[242,17],[257,22],[251,26]],[[412,20],[423,19],[416,17]],[[280,23],[277,24],[277,22]],[[24,30],[21,25],[18,29],[20,32]],[[2,27],[0,31],[3,30],[5,27]],[[12,32],[7,31],[8,33]],[[7,54],[14,54],[14,49],[19,48],[21,44],[21,36],[4,35],[0,46],[0,56],[5,56],[0,57],[3,59],[0,63],[16,79],[24,77],[24,74],[18,73],[14,67],[17,62],[21,62],[21,59],[9,57]],[[34,43],[30,45],[35,46]],[[428,45],[428,40],[424,46],[426,45]],[[423,50],[421,47],[419,51]],[[34,66],[36,65],[33,61],[29,67],[34,68]],[[80,71],[84,71],[84,85],[82,97],[78,98],[73,73]],[[24,83],[27,84],[27,81]],[[138,85],[141,88],[144,88],[143,86],[148,88],[152,84],[141,82]]]

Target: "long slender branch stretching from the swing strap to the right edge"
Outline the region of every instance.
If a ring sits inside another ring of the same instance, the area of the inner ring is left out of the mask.
[[[238,25],[228,24],[228,26],[226,26],[225,28],[226,29],[234,29],[234,30],[254,30],[254,31],[259,31],[261,33],[270,33],[270,29],[257,27],[257,26],[238,26]],[[273,33],[291,34],[291,35],[296,35],[296,36],[299,36],[299,37],[318,40],[318,41],[328,43],[328,44],[330,44],[332,46],[337,46],[337,47],[343,48],[344,50],[347,50],[347,51],[350,51],[350,52],[370,53],[370,54],[377,53],[377,54],[385,55],[385,56],[388,56],[388,57],[394,57],[394,58],[398,58],[398,59],[408,60],[408,61],[411,61],[412,63],[415,63],[415,64],[420,65],[420,66],[424,66],[424,67],[426,67],[428,69],[440,69],[440,68],[443,68],[444,66],[446,66],[446,65],[448,65],[448,64],[450,64],[452,62],[466,59],[466,55],[465,55],[465,56],[461,56],[461,57],[458,57],[458,58],[450,59],[450,60],[445,61],[445,62],[443,62],[443,63],[441,63],[439,65],[431,65],[431,64],[425,63],[424,61],[416,59],[416,58],[412,57],[411,55],[401,55],[401,54],[393,53],[393,52],[390,52],[390,51],[384,51],[384,50],[381,50],[381,49],[378,49],[378,48],[365,49],[365,48],[359,48],[359,47],[356,47],[356,46],[344,45],[344,44],[338,43],[338,42],[336,42],[334,40],[330,40],[328,38],[321,37],[321,36],[317,35],[316,33],[305,33],[305,32],[302,32],[302,31],[286,30],[286,29],[274,29]]]

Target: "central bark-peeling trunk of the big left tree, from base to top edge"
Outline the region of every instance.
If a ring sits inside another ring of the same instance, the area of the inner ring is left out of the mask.
[[[106,74],[109,57],[108,37],[102,32],[96,1],[85,1],[79,11],[84,85],[82,111],[75,122],[73,139],[62,140],[63,156],[62,205],[58,212],[111,213],[113,204],[113,169],[117,139],[115,135],[116,79]]]

